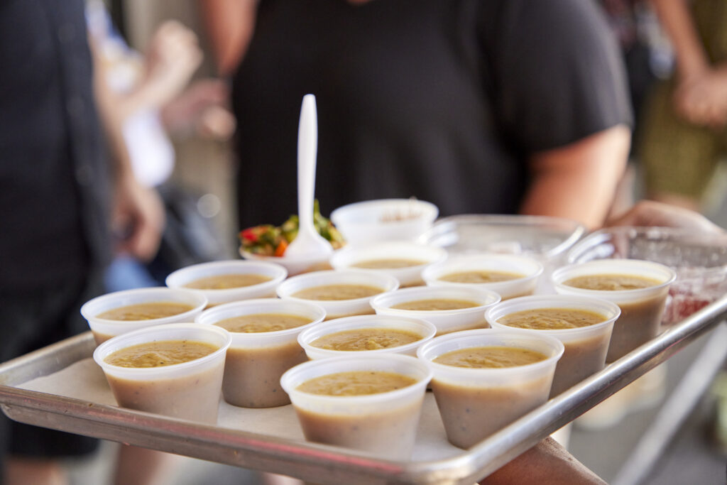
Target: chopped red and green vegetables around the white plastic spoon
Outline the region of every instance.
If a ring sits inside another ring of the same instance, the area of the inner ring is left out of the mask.
[[[321,215],[318,201],[313,203],[313,226],[334,249],[345,244],[343,236],[333,223]],[[292,215],[280,227],[270,224],[256,225],[240,231],[242,249],[262,256],[283,256],[298,235],[298,216]]]

